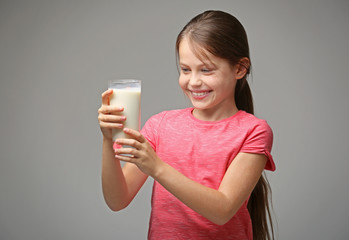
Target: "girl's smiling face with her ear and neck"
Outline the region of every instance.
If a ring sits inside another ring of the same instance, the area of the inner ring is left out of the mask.
[[[234,115],[238,111],[234,92],[236,81],[241,78],[239,69],[207,51],[208,58],[199,59],[186,38],[181,41],[178,53],[179,85],[193,104],[194,116],[215,121]]]

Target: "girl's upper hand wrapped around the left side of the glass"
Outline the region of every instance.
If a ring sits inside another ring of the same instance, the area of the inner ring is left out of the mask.
[[[103,137],[112,140],[112,129],[122,129],[126,117],[122,115],[123,107],[110,106],[110,96],[113,94],[112,89],[102,93],[102,106],[98,109],[98,122]]]

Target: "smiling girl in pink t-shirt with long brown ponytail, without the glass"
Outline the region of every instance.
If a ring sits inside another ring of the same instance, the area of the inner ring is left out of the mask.
[[[123,128],[123,109],[109,105],[112,90],[102,94],[107,205],[113,211],[127,207],[150,176],[149,239],[271,239],[262,173],[275,170],[273,135],[253,115],[243,26],[230,14],[206,11],[179,33],[176,50],[179,85],[192,108],[159,113],[138,132]],[[113,147],[112,128],[132,139],[118,139]]]

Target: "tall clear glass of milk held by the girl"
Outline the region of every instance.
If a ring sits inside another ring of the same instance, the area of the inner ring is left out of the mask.
[[[111,80],[108,88],[113,89],[110,105],[124,108],[121,113],[126,116],[124,127],[139,131],[141,124],[141,80]],[[118,138],[129,138],[122,129],[113,129],[112,134],[113,141]]]

